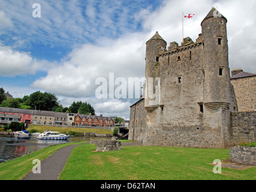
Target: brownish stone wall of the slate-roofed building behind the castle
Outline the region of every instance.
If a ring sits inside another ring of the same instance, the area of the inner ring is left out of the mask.
[[[256,76],[231,79],[239,112],[256,111]]]

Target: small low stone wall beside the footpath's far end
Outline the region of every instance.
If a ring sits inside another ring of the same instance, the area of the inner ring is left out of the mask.
[[[96,144],[96,152],[122,150],[122,143],[117,140],[91,139],[90,144]]]

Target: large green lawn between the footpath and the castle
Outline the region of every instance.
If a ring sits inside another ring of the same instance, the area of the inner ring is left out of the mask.
[[[209,163],[229,159],[229,149],[128,146],[122,151],[93,152],[96,145],[73,149],[61,180],[166,180],[256,179],[256,167],[236,170],[222,167],[214,174]]]

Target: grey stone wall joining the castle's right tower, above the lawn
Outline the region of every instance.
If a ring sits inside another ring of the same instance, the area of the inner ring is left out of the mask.
[[[256,142],[256,112],[231,113],[233,142]]]

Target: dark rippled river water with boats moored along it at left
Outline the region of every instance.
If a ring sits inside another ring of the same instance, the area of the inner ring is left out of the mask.
[[[90,137],[70,137],[68,140],[40,140],[35,136],[30,139],[17,139],[16,136],[0,135],[0,163],[27,155],[49,145],[69,142],[83,142]]]

